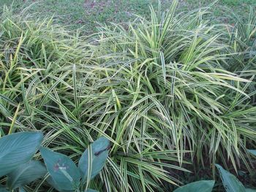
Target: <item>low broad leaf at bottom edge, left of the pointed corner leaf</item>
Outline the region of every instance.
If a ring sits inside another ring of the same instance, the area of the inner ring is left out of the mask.
[[[177,188],[174,192],[211,192],[214,183],[214,180],[200,180]]]

